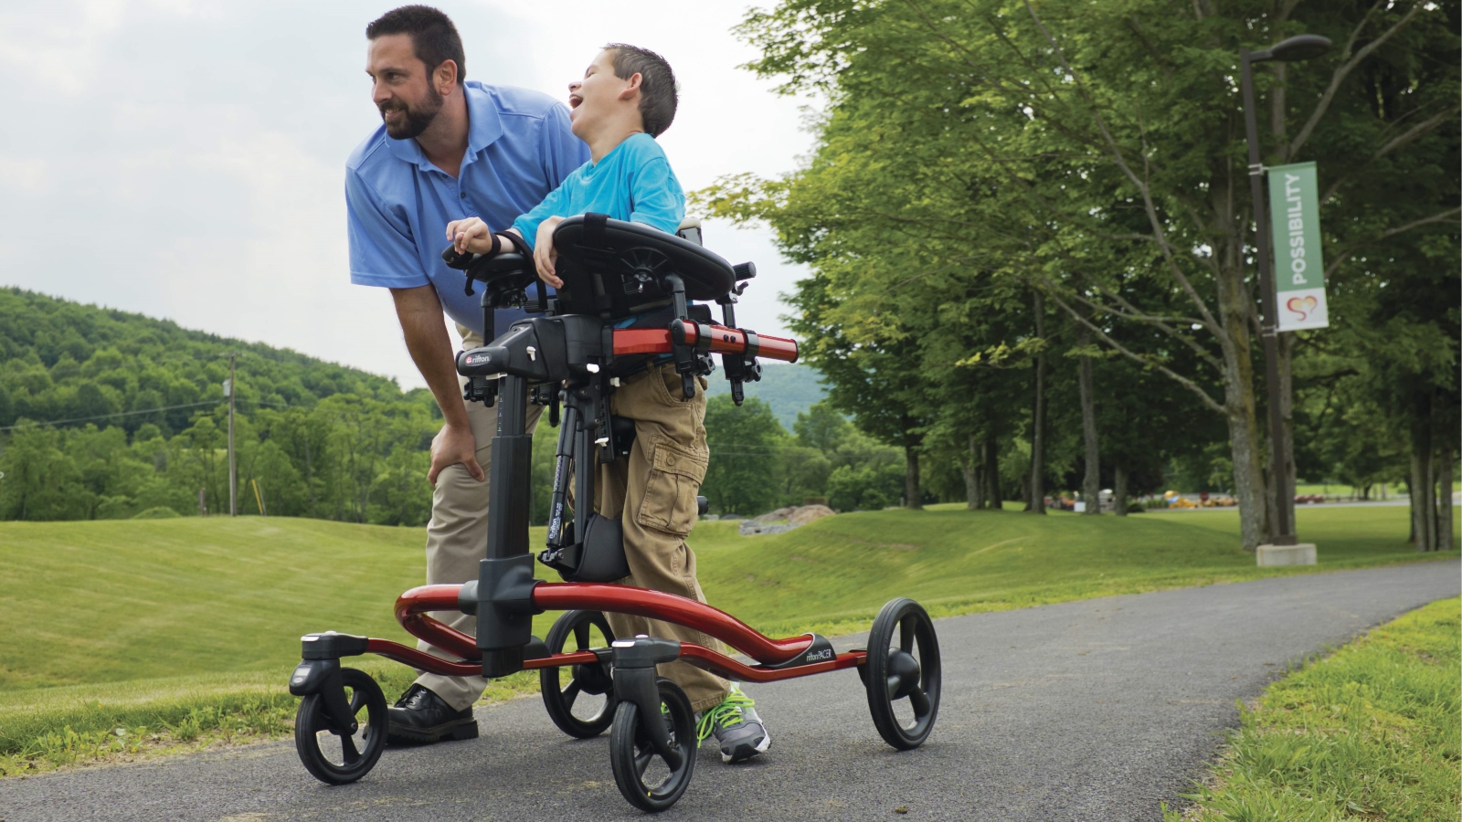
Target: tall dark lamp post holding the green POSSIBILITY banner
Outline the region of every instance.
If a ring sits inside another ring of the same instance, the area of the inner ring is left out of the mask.
[[[1269,215],[1265,214],[1265,165],[1259,159],[1259,124],[1254,114],[1253,63],[1279,60],[1292,63],[1310,60],[1330,50],[1330,41],[1314,34],[1301,34],[1269,47],[1265,51],[1238,51],[1241,85],[1244,92],[1244,133],[1249,137],[1249,190],[1254,200],[1254,228],[1259,246],[1259,293],[1265,303],[1260,336],[1265,344],[1265,377],[1269,383],[1269,440],[1273,443],[1273,465],[1270,475],[1275,484],[1273,544],[1294,546],[1294,489],[1289,487],[1289,439],[1284,431],[1284,412],[1279,404],[1279,301],[1275,295],[1273,268],[1269,244]]]

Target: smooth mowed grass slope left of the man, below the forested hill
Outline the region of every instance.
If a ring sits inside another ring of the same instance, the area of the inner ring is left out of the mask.
[[[319,519],[0,524],[0,690],[279,670],[308,630],[405,638],[415,529]]]

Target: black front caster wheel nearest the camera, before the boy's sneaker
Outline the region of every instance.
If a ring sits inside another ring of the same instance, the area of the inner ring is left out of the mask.
[[[696,772],[696,714],[690,699],[678,685],[665,677],[655,680],[659,686],[661,704],[668,711],[665,718],[674,728],[674,740],[686,752],[680,769],[673,771],[655,787],[645,784],[643,775],[652,761],[661,761],[649,744],[640,724],[639,705],[620,702],[614,711],[614,727],[610,730],[610,765],[614,769],[614,784],[630,804],[648,813],[658,813],[675,804],[690,777]],[[661,761],[664,762],[664,761]]]

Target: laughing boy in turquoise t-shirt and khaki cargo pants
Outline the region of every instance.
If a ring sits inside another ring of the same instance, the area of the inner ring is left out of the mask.
[[[575,136],[589,145],[589,162],[510,231],[534,249],[538,276],[563,287],[554,272],[553,231],[567,216],[605,214],[674,233],[686,215],[686,196],[655,137],[675,117],[675,76],[664,57],[624,44],[610,44],[594,59],[582,80],[569,83],[569,117]],[[494,238],[481,219],[447,225],[458,252],[484,253]],[[705,380],[684,398],[673,363],[651,363],[621,379],[611,411],[635,420],[629,459],[601,468],[595,508],[620,518],[630,576],[621,584],[706,601],[696,581],[696,554],[686,535],[696,522],[696,490],[706,474]],[[626,614],[608,614],[618,636],[648,633],[719,644],[689,627]],[[664,665],[697,712],[697,742],[715,736],[724,762],[741,762],[768,749],[772,739],[749,696],[732,683],[690,665]]]

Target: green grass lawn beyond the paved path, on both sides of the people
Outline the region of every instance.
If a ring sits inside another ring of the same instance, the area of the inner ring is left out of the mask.
[[[1232,510],[1085,518],[936,506],[848,513],[769,537],[703,522],[690,544],[708,598],[768,633],[857,630],[899,595],[955,614],[1456,556],[1417,554],[1405,508],[1298,518],[1301,535],[1320,546],[1317,568],[1254,568]],[[0,522],[0,753],[66,725],[213,721],[225,695],[244,714],[285,709],[301,633],[411,642],[390,607],[421,582],[423,543],[421,529],[282,518]],[[554,616],[538,617],[539,636]],[[392,696],[411,679],[393,663],[366,667]],[[519,677],[494,695],[531,687]]]

